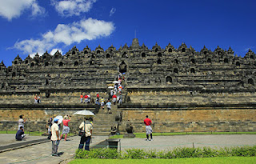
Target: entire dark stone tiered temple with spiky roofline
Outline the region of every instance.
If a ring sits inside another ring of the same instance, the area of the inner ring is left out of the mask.
[[[65,55],[17,56],[12,66],[0,63],[0,129],[17,130],[18,116],[24,114],[25,129],[43,131],[48,118],[86,109],[96,113],[98,135],[109,134],[116,122],[121,133],[127,123],[135,132],[145,131],[146,114],[158,132],[255,131],[255,59],[251,50],[242,58],[231,48],[204,46],[198,52],[185,43],[178,48],[156,43],[149,49],[137,38],[119,49],[74,46]],[[81,93],[95,99],[98,92],[107,99],[107,87],[119,72],[125,77],[123,103],[113,106],[113,114],[80,104]],[[33,103],[34,94],[41,94],[42,103]],[[81,120],[74,117],[73,131]]]

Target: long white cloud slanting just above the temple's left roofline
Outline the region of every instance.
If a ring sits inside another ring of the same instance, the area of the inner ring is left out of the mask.
[[[74,42],[94,40],[109,36],[114,31],[113,22],[105,22],[93,18],[82,19],[80,22],[71,24],[58,24],[55,30],[42,34],[42,38],[18,41],[14,44],[15,49],[22,50],[24,54],[38,52],[43,54],[58,44],[70,46]]]

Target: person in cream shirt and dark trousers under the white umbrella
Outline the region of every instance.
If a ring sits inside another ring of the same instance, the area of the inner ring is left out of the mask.
[[[85,146],[85,150],[89,150],[89,146],[90,146],[90,139],[91,139],[91,134],[92,134],[92,130],[93,130],[93,126],[89,121],[90,118],[86,118],[86,121],[83,121],[81,123],[81,125],[79,126],[80,130],[84,130],[85,134],[81,136],[80,139],[80,144],[78,146],[78,149],[83,148],[83,146],[85,145],[86,142],[86,146]]]

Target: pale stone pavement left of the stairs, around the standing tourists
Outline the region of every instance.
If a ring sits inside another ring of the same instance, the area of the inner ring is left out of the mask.
[[[9,135],[9,138],[6,136]],[[14,134],[5,134],[5,138],[0,134],[1,140],[6,139],[7,141],[14,138]],[[28,136],[26,140],[33,140],[33,138],[46,138],[46,137],[31,137]],[[107,136],[94,136],[90,146],[97,145],[98,142],[105,141]],[[80,142],[79,136],[67,138],[69,141],[62,140],[58,146],[58,153],[63,153],[61,157],[51,156],[51,142],[44,142],[33,146],[26,146],[17,150],[10,150],[0,153],[0,163],[22,163],[22,164],[34,164],[34,163],[65,163],[66,159],[70,159],[74,156],[75,150],[78,149]],[[50,140],[49,140],[50,141]],[[16,142],[16,141],[15,141]],[[2,144],[2,142],[1,142]],[[0,145],[2,146],[2,145]],[[63,162],[64,160],[64,162]]]

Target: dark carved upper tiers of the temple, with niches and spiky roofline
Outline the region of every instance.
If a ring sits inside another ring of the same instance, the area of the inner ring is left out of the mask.
[[[185,90],[233,91],[255,90],[255,54],[251,50],[244,58],[234,51],[214,51],[205,46],[200,52],[182,43],[178,49],[165,48],[156,43],[151,49],[140,46],[134,38],[132,45],[118,50],[110,46],[103,50],[88,46],[78,50],[75,46],[65,55],[47,52],[34,58],[14,59],[12,66],[0,64],[0,93],[39,93],[56,90],[82,90],[106,88],[116,80],[118,72],[125,73],[126,86],[183,86]]]

